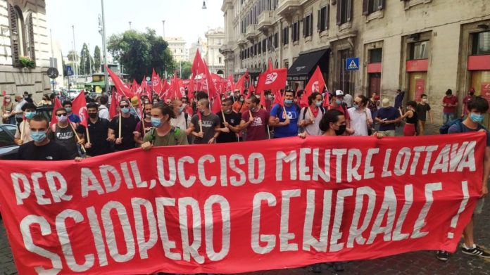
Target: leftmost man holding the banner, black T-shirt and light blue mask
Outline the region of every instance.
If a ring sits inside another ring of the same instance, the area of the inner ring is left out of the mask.
[[[30,142],[24,143],[17,151],[18,160],[70,160],[63,146],[51,141],[46,132],[49,121],[44,115],[34,115],[29,122]]]

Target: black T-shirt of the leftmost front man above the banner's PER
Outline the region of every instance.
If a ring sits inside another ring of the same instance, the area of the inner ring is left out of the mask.
[[[34,141],[24,143],[17,151],[18,160],[72,160],[70,154],[63,146],[54,141],[46,145],[36,146]]]

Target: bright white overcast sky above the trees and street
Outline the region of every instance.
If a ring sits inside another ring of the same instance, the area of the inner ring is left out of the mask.
[[[130,29],[144,32],[146,27],[165,37],[182,37],[186,47],[205,39],[208,29],[223,27],[221,11],[222,0],[207,0],[207,9],[202,9],[202,0],[104,0],[106,17],[106,37]],[[51,29],[53,42],[61,44],[63,55],[73,49],[73,28],[75,26],[75,49],[80,54],[84,43],[90,44],[90,53],[94,47],[102,45],[99,34],[99,14],[101,0],[46,0],[46,17]],[[102,47],[101,47],[102,50]]]

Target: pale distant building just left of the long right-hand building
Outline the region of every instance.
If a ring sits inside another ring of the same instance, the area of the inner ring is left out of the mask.
[[[208,30],[206,32],[208,51],[204,56],[210,72],[225,76],[225,58],[220,53],[220,47],[225,41],[225,32],[222,28]]]

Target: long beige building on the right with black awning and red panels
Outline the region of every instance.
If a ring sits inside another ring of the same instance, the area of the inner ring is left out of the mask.
[[[303,87],[317,65],[329,90],[406,100],[427,94],[441,123],[447,89],[490,100],[488,0],[224,0],[227,73],[288,68]],[[347,58],[358,70],[346,70]],[[488,124],[488,120],[486,120]]]

